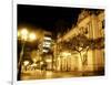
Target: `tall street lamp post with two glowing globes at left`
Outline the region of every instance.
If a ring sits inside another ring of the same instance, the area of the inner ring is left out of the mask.
[[[23,57],[23,52],[24,52],[24,44],[28,41],[28,39],[30,41],[36,40],[36,34],[34,33],[29,33],[27,29],[22,29],[20,32],[18,31],[18,36],[20,38],[20,40],[22,41],[22,47],[21,47],[21,52],[20,52],[20,57],[19,57],[19,63],[18,63],[18,81],[21,79],[21,66],[22,66],[22,57]]]

